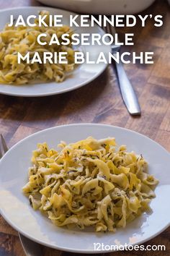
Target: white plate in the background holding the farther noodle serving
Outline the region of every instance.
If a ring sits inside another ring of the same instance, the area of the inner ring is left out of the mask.
[[[63,14],[63,24],[69,25],[69,15],[73,12],[63,11],[61,9],[54,9],[48,7],[19,7],[14,9],[5,9],[0,11],[0,31],[3,29],[4,25],[9,22],[10,14],[14,14],[14,17],[18,17],[22,14],[24,19],[30,14],[38,14],[40,10],[49,10],[50,14]],[[78,22],[79,23],[79,22]],[[104,35],[104,31],[99,26],[94,27],[73,27],[76,33],[99,33]],[[106,55],[110,50],[110,46],[83,46],[82,51],[89,54],[92,59],[97,59],[99,53],[103,51]],[[59,93],[66,93],[70,90],[80,88],[83,85],[88,84],[95,78],[102,74],[107,64],[81,64],[71,75],[66,77],[61,83],[48,82],[40,83],[36,85],[2,85],[0,84],[0,93],[6,95],[14,96],[24,96],[24,97],[38,97],[54,95]]]

